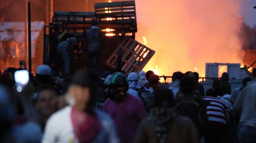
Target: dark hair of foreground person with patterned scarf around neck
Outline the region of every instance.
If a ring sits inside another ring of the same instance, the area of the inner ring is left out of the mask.
[[[157,89],[155,92],[155,105],[156,106],[163,106],[163,103],[167,103],[167,106],[174,105],[174,99],[172,92],[167,88]]]

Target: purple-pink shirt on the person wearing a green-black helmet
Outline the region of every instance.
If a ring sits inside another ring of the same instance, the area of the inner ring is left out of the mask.
[[[121,142],[133,143],[139,124],[147,115],[141,100],[130,94],[120,103],[107,99],[103,110],[114,120]]]

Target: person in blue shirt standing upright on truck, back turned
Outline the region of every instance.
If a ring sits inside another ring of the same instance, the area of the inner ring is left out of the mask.
[[[97,21],[93,20],[91,29],[86,32],[86,45],[89,52],[89,67],[95,68],[98,65],[104,33],[100,30]]]

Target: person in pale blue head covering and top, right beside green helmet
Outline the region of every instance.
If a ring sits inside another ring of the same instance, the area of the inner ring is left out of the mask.
[[[128,83],[129,83],[129,89],[127,93],[139,98],[137,90],[141,88],[141,86],[138,84],[138,74],[135,72],[131,72],[128,75]]]

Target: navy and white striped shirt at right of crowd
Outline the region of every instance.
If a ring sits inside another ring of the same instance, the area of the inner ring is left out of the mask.
[[[222,123],[226,125],[227,123],[225,120],[226,118],[224,112],[229,112],[229,109],[225,102],[219,100],[218,98],[209,96],[205,96],[203,97],[203,99],[210,102],[210,104],[206,107],[206,113],[208,115],[209,122]]]

